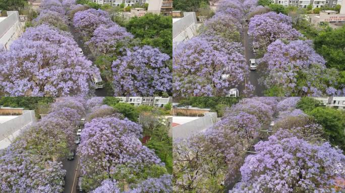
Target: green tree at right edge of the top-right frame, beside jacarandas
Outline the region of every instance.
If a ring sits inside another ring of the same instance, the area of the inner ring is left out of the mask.
[[[345,70],[345,26],[321,32],[314,39],[315,50],[326,60],[327,67]]]

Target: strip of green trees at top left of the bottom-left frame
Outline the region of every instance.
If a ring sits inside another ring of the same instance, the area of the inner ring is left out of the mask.
[[[24,108],[25,110],[34,110],[36,118],[39,118],[39,114],[41,113],[41,109],[43,106],[46,108],[45,105],[53,103],[55,100],[52,97],[9,97],[3,96],[0,98],[0,106],[4,107],[12,107],[12,108]]]

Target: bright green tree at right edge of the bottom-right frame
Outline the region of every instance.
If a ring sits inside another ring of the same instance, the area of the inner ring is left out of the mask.
[[[345,112],[328,107],[317,107],[307,113],[323,126],[330,143],[345,151]]]

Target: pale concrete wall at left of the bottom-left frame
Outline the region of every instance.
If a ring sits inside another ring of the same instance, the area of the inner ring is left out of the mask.
[[[36,122],[35,111],[24,110],[23,115],[0,124],[0,141],[34,122]]]

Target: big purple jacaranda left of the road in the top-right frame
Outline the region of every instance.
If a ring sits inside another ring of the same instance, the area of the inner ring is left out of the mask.
[[[172,55],[174,95],[226,95],[249,70],[241,50],[240,43],[216,37],[197,36],[181,43]]]

